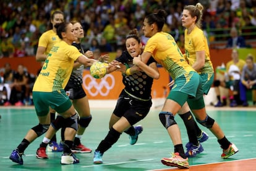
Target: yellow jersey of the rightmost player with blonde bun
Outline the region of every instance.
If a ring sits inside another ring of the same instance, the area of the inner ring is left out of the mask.
[[[194,30],[190,34],[187,34],[187,29],[184,33],[185,38],[185,50],[186,50],[186,58],[189,62],[189,65],[194,65],[197,60],[197,56],[195,52],[205,51],[205,65],[201,68],[198,73],[214,73],[213,64],[210,60],[210,51],[208,47],[207,38],[203,34],[203,31],[195,26]]]

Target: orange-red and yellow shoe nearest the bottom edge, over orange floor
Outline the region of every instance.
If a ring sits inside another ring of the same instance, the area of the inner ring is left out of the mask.
[[[179,167],[181,169],[189,168],[189,159],[183,159],[179,156],[179,153],[173,153],[173,156],[170,158],[161,159],[162,164],[171,166],[171,167]]]

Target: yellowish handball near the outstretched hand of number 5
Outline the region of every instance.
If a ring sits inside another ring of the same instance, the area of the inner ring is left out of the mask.
[[[108,63],[104,62],[95,62],[90,67],[90,73],[93,76],[93,78],[103,78],[106,75],[106,67],[108,66]]]

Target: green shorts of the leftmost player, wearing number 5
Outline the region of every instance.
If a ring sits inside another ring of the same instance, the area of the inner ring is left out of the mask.
[[[58,113],[64,113],[72,106],[63,89],[53,92],[33,92],[33,103],[37,116],[46,116],[49,113],[49,106]]]

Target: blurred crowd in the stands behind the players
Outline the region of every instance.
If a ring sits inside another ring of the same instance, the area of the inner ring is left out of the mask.
[[[124,48],[127,31],[137,28],[142,33],[145,15],[164,9],[168,12],[164,30],[176,41],[182,40],[182,9],[197,1],[2,1],[0,4],[0,57],[25,57],[35,55],[38,38],[48,30],[49,17],[54,10],[61,10],[66,20],[79,20],[86,33],[83,46],[86,49],[102,48],[112,52]],[[230,28],[244,33],[246,38],[255,38],[256,1],[211,0],[199,1],[205,6],[202,28],[210,41],[227,40]],[[249,26],[249,27],[248,27]],[[248,34],[249,35],[248,35]],[[181,39],[180,39],[181,38]],[[143,38],[142,38],[143,40]],[[147,39],[145,39],[147,41]],[[182,45],[182,42],[181,42]]]

